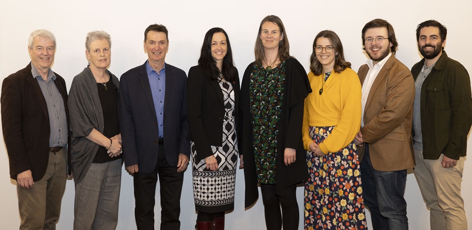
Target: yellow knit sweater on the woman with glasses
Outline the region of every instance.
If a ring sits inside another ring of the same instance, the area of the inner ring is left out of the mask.
[[[323,85],[324,75],[315,76],[308,73],[310,86],[313,90],[305,99],[303,112],[303,146],[309,150],[313,141],[309,127],[335,126],[331,134],[321,143],[324,154],[335,153],[354,140],[360,129],[362,89],[359,77],[351,68],[341,73],[334,70],[323,86],[323,94],[319,90]]]

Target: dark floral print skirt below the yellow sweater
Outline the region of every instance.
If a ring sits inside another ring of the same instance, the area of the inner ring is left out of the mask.
[[[320,144],[332,127],[310,127]],[[305,182],[305,230],[365,230],[359,161],[354,140],[336,153],[317,157],[307,151],[310,177]]]

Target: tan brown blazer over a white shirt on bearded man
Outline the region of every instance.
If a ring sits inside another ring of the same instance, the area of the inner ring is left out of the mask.
[[[361,85],[368,71],[367,64],[360,66],[357,74]],[[413,75],[391,55],[372,84],[364,109],[364,127],[360,129],[376,170],[414,167],[413,100]],[[363,154],[364,149],[359,148],[359,159]]]

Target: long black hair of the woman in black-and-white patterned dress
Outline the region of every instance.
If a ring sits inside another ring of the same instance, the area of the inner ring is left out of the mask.
[[[211,56],[211,39],[213,38],[214,33],[224,33],[226,36],[228,50],[226,51],[226,56],[223,58],[223,67],[221,68],[221,71],[223,72],[225,80],[232,82],[236,80],[234,73],[236,67],[233,64],[233,52],[231,51],[230,38],[228,37],[228,34],[225,30],[218,27],[208,30],[203,40],[202,51],[200,53],[200,58],[198,59],[198,65],[203,66],[210,80],[218,79],[220,71],[216,67],[216,61],[213,59],[213,56]]]

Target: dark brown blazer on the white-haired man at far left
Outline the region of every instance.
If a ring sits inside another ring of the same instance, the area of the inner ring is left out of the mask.
[[[54,83],[64,101],[69,126],[65,81],[59,74],[54,75]],[[33,181],[38,181],[48,167],[51,130],[48,106],[38,82],[31,74],[31,63],[3,79],[0,100],[1,124],[10,162],[10,177],[16,180],[18,173],[31,170]],[[67,159],[70,165],[70,151]]]

